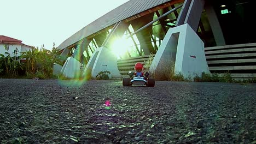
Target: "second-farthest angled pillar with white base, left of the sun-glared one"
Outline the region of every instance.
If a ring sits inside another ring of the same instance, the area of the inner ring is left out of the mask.
[[[67,61],[61,69],[61,74],[64,76],[74,79],[78,78],[81,73],[81,63],[80,58],[83,55],[86,47],[89,45],[91,40],[83,39],[79,42],[77,49],[75,49],[73,55],[67,58]]]

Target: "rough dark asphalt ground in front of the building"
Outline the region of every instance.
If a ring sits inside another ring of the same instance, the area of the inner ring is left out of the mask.
[[[255,104],[255,83],[0,79],[0,142],[253,144]]]

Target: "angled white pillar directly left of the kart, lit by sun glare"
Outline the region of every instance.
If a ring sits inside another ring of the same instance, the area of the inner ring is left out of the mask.
[[[110,79],[112,77],[121,77],[121,74],[117,67],[117,56],[115,56],[112,52],[111,44],[114,42],[115,39],[121,38],[128,26],[128,23],[120,21],[113,27],[113,30],[104,40],[102,46],[96,49],[91,56],[88,64],[85,67],[83,73],[84,77],[96,77],[97,74],[100,73],[100,71],[104,70],[110,71]],[[121,48],[122,47],[120,47],[120,49]]]

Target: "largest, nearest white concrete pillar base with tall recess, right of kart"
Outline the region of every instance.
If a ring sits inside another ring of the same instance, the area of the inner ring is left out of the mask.
[[[149,68],[156,79],[166,73],[171,74],[171,70],[174,74],[181,73],[184,78],[201,76],[202,72],[210,73],[204,44],[188,24],[168,30]]]

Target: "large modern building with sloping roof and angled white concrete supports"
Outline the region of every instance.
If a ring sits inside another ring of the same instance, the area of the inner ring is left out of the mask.
[[[150,70],[171,67],[185,77],[229,71],[256,77],[255,2],[250,0],[131,0],[58,46],[67,77],[109,70],[121,77],[150,54]],[[115,55],[117,54],[117,55]],[[80,67],[84,66],[84,70]]]

